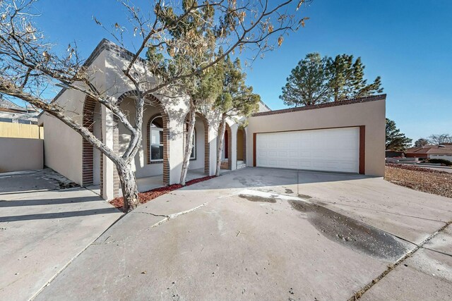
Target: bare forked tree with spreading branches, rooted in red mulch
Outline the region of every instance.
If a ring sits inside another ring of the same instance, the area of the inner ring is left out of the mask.
[[[66,54],[54,51],[54,45],[35,23],[39,16],[35,2],[36,0],[0,1],[0,93],[23,99],[58,118],[112,160],[121,180],[125,211],[138,205],[132,164],[141,145],[143,108],[148,94],[171,94],[179,91],[184,80],[207,72],[236,49],[251,49],[258,56],[261,51],[273,48],[270,46],[270,36],[276,35],[277,44],[281,44],[283,35],[296,30],[307,19],[295,15],[295,11],[304,3],[303,0],[287,0],[278,4],[273,1],[251,0],[203,1],[202,4],[194,0],[155,0],[154,5],[145,8],[135,7],[129,1],[119,1],[129,18],[124,25],[115,23],[109,33],[123,47],[126,46],[125,38],[139,40],[138,47],[122,70],[136,93],[135,121],[132,123],[110,96],[112,93],[108,87],[101,89],[95,85],[98,70],[90,68],[81,59],[76,45],[69,45]],[[215,11],[215,19],[209,25],[210,30],[215,32],[215,39],[210,42],[215,47],[224,47],[225,51],[220,56],[208,56],[206,60],[191,63],[188,65],[190,68],[187,68],[189,54],[191,51],[203,51],[204,40],[194,38],[190,31],[185,31],[186,34],[180,37],[174,37],[172,32],[183,30],[190,18],[198,18],[197,14],[202,10]],[[95,22],[104,27],[99,20],[95,19]],[[166,63],[162,66],[162,62],[158,60],[143,60],[146,51],[160,54]],[[178,53],[187,55],[180,59],[180,56],[177,57]],[[161,70],[168,72],[160,72]],[[154,75],[155,82],[149,82],[148,75]],[[88,128],[72,117],[67,108],[45,99],[44,92],[54,86],[77,90],[111,111],[131,133],[124,154],[117,154],[90,133]],[[191,141],[189,144],[191,145]]]

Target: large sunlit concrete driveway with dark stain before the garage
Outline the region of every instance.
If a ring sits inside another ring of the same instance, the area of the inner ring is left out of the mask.
[[[36,300],[451,300],[451,219],[382,178],[244,168],[127,214]]]

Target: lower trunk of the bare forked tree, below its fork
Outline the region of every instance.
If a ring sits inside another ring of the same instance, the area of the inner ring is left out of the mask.
[[[131,164],[117,164],[117,171],[124,198],[122,209],[124,212],[129,212],[138,206],[138,188],[136,186],[135,173],[133,173]]]

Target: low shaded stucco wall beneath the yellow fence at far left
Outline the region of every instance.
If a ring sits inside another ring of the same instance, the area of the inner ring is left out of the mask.
[[[0,173],[42,169],[43,140],[0,137]]]

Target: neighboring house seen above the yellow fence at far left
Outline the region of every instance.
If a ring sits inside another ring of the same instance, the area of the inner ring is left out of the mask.
[[[28,107],[18,106],[0,95],[0,122],[37,124],[39,111]]]

